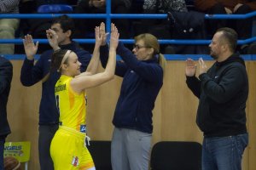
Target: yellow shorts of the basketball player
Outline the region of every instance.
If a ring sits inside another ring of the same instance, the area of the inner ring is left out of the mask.
[[[85,133],[60,126],[50,144],[55,170],[94,169],[89,150],[84,146]]]

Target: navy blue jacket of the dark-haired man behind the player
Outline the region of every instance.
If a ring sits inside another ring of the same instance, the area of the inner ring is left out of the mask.
[[[90,53],[82,48],[76,42],[61,46],[61,49],[71,49],[79,57],[82,63],[81,71],[85,71],[90,62]],[[40,59],[34,65],[34,60],[25,59],[21,68],[20,82],[28,87],[41,81],[50,69],[50,58],[53,50],[47,50],[41,54]],[[59,113],[55,104],[55,83],[61,75],[53,72],[49,75],[46,82],[43,82],[42,98],[39,107],[39,124],[50,125],[59,122]]]

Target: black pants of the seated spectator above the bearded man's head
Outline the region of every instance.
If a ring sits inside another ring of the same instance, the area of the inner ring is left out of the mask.
[[[207,12],[208,14],[226,14],[224,5],[221,3],[216,4]],[[235,14],[247,14],[250,12],[252,12],[252,9],[244,4],[236,10]],[[206,20],[206,22],[207,31],[211,37],[221,27],[233,28],[238,34],[238,39],[247,39],[252,36],[252,18],[243,20]]]

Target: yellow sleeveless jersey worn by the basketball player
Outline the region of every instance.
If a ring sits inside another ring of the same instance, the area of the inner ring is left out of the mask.
[[[60,125],[86,133],[86,94],[73,91],[70,82],[73,77],[61,75],[55,84],[55,99],[60,113]]]

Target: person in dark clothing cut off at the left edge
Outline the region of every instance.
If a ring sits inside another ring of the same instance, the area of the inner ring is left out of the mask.
[[[13,78],[13,65],[0,57],[0,169],[3,169],[3,148],[6,136],[10,133],[6,105]]]

